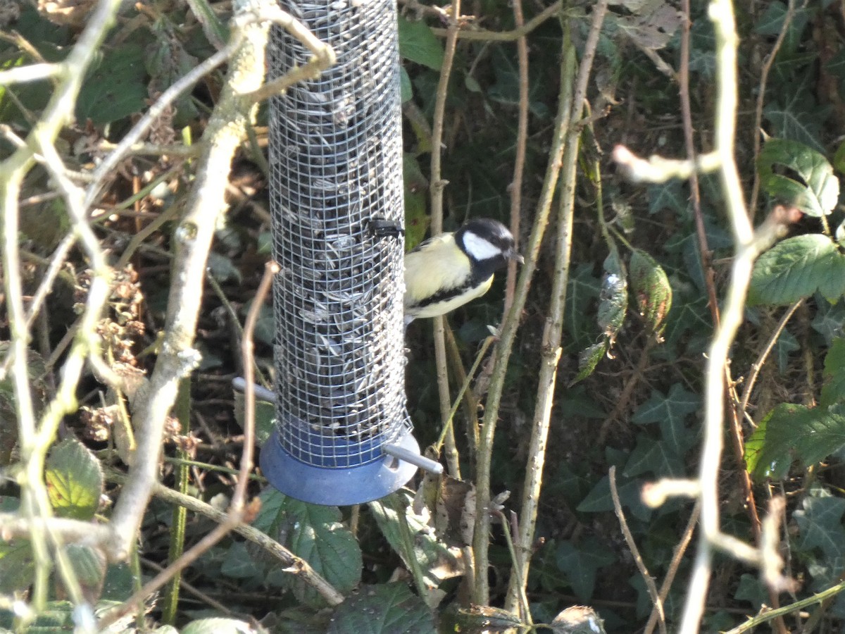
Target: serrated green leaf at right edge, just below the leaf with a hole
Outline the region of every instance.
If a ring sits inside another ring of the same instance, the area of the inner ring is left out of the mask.
[[[782,306],[816,291],[831,303],[845,293],[845,256],[820,233],[787,238],[760,255],[751,274],[750,306]]]

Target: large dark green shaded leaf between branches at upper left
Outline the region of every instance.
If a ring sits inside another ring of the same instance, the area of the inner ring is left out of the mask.
[[[85,78],[76,101],[80,123],[112,123],[144,110],[149,98],[144,70],[144,49],[125,44],[106,52],[94,72]]]

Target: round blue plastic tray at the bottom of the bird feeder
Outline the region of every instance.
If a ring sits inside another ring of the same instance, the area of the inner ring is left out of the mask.
[[[278,434],[276,429],[261,448],[261,471],[276,489],[303,502],[348,506],[379,500],[400,489],[417,471],[410,462],[386,454],[357,467],[314,467],[285,451]],[[394,444],[417,454],[420,451],[410,431]]]

